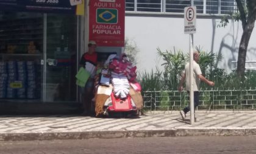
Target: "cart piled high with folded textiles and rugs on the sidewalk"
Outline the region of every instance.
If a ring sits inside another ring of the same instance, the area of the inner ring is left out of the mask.
[[[104,66],[108,65],[108,70],[101,71],[101,79],[96,86],[98,89],[94,97],[96,116],[108,115],[108,111],[136,111],[138,114],[143,107],[141,87],[136,81],[137,67],[126,58],[125,54],[121,58],[110,55],[105,62]]]

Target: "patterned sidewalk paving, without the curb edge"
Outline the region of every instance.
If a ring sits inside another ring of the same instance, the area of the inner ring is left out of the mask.
[[[170,130],[177,128],[256,128],[255,111],[197,111],[199,122],[182,121],[178,111],[146,113],[135,119],[98,118],[78,115],[0,116],[0,133],[52,133],[120,130]]]

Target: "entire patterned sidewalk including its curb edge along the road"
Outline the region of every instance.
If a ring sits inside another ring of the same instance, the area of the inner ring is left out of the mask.
[[[160,136],[256,135],[256,111],[196,111],[190,125],[179,111],[146,113],[136,119],[79,115],[0,116],[0,141]]]

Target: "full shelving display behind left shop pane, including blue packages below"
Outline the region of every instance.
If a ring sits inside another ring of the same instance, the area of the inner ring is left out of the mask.
[[[43,15],[0,15],[0,98],[38,99],[41,94]]]

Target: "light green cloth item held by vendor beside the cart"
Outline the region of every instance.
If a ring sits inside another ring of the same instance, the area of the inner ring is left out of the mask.
[[[80,87],[85,87],[87,80],[90,77],[90,73],[85,70],[85,68],[79,68],[76,74],[76,85]]]

